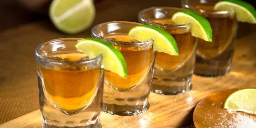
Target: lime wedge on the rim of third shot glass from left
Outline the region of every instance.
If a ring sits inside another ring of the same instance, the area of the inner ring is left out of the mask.
[[[212,28],[209,21],[193,11],[179,11],[172,15],[172,20],[178,25],[191,23],[191,34],[195,37],[212,42]]]

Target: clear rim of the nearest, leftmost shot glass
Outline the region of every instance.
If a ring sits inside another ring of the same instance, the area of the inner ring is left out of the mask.
[[[59,61],[59,60],[53,60],[53,59],[47,58],[45,55],[42,55],[41,48],[47,44],[65,42],[65,41],[77,41],[78,42],[81,39],[83,39],[83,38],[58,38],[58,39],[52,39],[51,41],[47,41],[45,43],[39,44],[35,50],[36,58],[39,58],[41,60],[48,61],[51,63],[55,63],[58,65],[62,65],[63,63],[67,63],[69,65],[74,64],[74,63],[75,64],[88,64],[88,63],[97,62],[98,60],[102,60],[101,54],[98,55],[97,57],[91,58],[89,60],[81,60],[81,61],[76,61],[76,62],[71,62],[71,61],[63,62],[63,61]]]

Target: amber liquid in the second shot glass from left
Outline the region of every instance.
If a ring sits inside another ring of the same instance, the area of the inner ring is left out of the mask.
[[[114,38],[119,42],[130,42],[134,40],[127,34],[109,34],[105,38]],[[147,76],[151,63],[153,61],[153,49],[141,49],[141,47],[114,45],[119,50],[126,62],[127,78],[120,77],[111,71],[105,71],[105,79],[111,86],[114,86],[119,91],[130,90],[138,85]]]

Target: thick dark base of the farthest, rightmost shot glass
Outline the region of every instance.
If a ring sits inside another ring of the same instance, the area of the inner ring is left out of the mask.
[[[226,52],[225,55],[206,60],[199,55],[196,57],[194,74],[198,76],[217,77],[229,73],[234,51]]]

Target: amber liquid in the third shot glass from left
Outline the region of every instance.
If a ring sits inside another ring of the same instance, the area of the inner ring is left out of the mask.
[[[171,19],[151,19],[150,21],[164,23],[167,25],[175,25]],[[164,70],[174,70],[180,68],[190,54],[195,50],[196,38],[191,35],[190,31],[187,32],[186,30],[164,27],[162,27],[162,29],[170,33],[175,39],[178,45],[179,56],[169,55],[164,52],[156,52],[155,65],[156,67]],[[194,63],[191,63],[191,65],[194,65]]]

